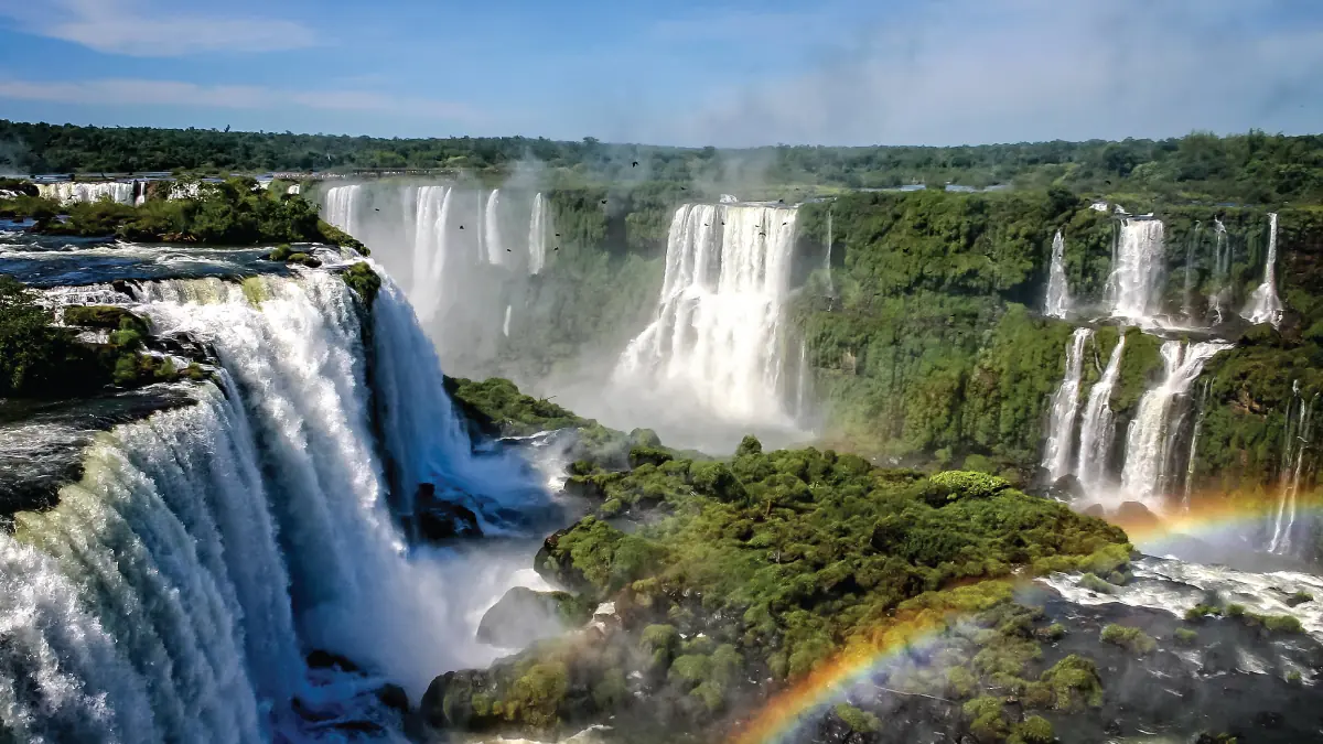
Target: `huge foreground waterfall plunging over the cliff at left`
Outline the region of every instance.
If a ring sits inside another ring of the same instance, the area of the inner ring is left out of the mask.
[[[320,735],[291,700],[333,720],[355,694],[316,682],[310,649],[415,700],[435,674],[491,661],[463,631],[471,571],[406,552],[388,483],[404,514],[425,481],[475,511],[541,492],[471,454],[401,293],[386,282],[372,310],[370,387],[361,314],[333,274],[167,281],[138,297],[157,332],[214,348],[220,381],[102,436],[56,508],[0,534],[0,729],[302,741]]]

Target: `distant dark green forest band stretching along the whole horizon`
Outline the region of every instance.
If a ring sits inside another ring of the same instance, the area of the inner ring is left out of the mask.
[[[369,136],[78,127],[0,119],[0,172],[128,173],[442,168],[509,172],[536,162],[585,181],[843,188],[960,184],[1060,185],[1080,193],[1146,193],[1237,203],[1323,201],[1323,135],[1261,131],[1123,142],[974,147],[808,147],[747,150],[508,138]]]

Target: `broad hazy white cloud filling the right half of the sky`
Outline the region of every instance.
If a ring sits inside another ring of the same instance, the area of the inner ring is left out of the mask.
[[[718,78],[632,138],[959,144],[1323,120],[1323,24],[1283,0],[950,0],[840,32],[804,74]]]

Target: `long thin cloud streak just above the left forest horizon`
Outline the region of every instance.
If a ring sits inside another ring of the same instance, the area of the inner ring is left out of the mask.
[[[394,116],[443,119],[468,126],[483,116],[471,106],[431,98],[388,95],[364,90],[288,91],[246,85],[197,85],[180,81],[107,78],[45,82],[0,75],[0,99],[44,101],[83,106],[177,106],[212,109],[312,109],[380,113]]]

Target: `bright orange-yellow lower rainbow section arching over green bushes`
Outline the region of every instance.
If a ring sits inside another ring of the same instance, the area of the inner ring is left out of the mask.
[[[988,594],[987,586],[995,586],[998,593]],[[815,667],[789,690],[773,696],[751,719],[737,727],[732,741],[774,744],[786,740],[802,723],[815,719],[815,714],[840,702],[851,687],[898,669],[909,657],[938,645],[943,631],[967,617],[970,610],[1004,601],[1009,598],[1009,590],[1008,581],[992,580],[942,592],[943,602],[950,602],[949,605],[938,602],[937,606],[922,606],[914,601],[902,604],[894,618],[860,634],[845,650]],[[971,606],[967,598],[979,593],[983,596],[982,602]]]

